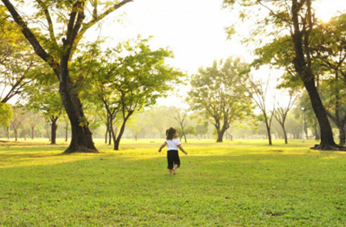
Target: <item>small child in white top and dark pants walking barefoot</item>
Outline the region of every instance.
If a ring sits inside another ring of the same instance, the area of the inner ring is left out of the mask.
[[[175,128],[170,128],[166,130],[166,136],[167,139],[165,140],[165,143],[161,145],[161,147],[158,149],[158,152],[161,152],[162,148],[164,148],[167,145],[167,161],[168,166],[167,168],[170,170],[170,174],[175,175],[176,169],[180,166],[180,159],[178,154],[178,148],[182,152],[185,153],[185,155],[188,155],[188,153],[184,150],[184,148],[181,146],[181,143],[178,138],[178,132],[176,132]]]

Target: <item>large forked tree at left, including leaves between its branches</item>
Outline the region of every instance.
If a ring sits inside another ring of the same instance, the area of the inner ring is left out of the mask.
[[[113,1],[39,0],[32,4],[35,13],[30,17],[19,14],[19,12],[26,12],[26,14],[29,12],[25,8],[24,1],[1,1],[33,46],[36,54],[48,63],[60,81],[60,95],[71,122],[72,132],[71,144],[65,152],[98,152],[93,144],[89,124],[86,122],[82,103],[78,97],[79,89],[76,88],[80,88],[80,80],[71,78],[69,65],[86,31],[132,0],[116,1],[116,3]],[[17,3],[16,7],[12,2]],[[40,21],[44,23],[44,26],[34,25],[35,29],[33,29],[30,28],[33,22],[29,21]],[[47,30],[44,30],[45,28]],[[62,42],[60,43],[59,40]]]

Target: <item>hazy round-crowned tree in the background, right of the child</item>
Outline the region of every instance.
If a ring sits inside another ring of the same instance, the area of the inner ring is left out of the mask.
[[[251,115],[252,102],[237,77],[248,66],[240,59],[214,61],[212,67],[199,68],[191,79],[191,90],[186,101],[192,110],[208,119],[217,131],[217,142],[233,121]]]

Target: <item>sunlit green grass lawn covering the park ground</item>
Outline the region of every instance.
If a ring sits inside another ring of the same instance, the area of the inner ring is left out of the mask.
[[[168,175],[162,142],[0,142],[0,226],[346,226],[346,152],[188,141]]]

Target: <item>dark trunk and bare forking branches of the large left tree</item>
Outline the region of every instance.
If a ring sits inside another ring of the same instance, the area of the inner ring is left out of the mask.
[[[94,18],[88,25],[83,24],[85,19],[84,14],[84,1],[76,1],[73,5],[73,10],[69,14],[68,26],[66,28],[66,37],[62,39],[63,45],[61,48],[62,56],[60,64],[55,61],[53,56],[49,55],[44,48],[42,48],[39,41],[36,39],[35,34],[28,28],[25,20],[18,14],[15,6],[9,0],[1,0],[3,4],[8,8],[8,11],[12,15],[16,23],[21,26],[21,31],[24,36],[33,46],[35,52],[39,57],[46,61],[54,70],[57,77],[60,80],[60,95],[62,96],[62,103],[66,109],[66,113],[69,116],[71,122],[71,144],[69,148],[65,150],[65,153],[71,152],[98,152],[93,139],[91,137],[91,131],[89,130],[88,122],[84,117],[82,110],[82,104],[78,98],[78,94],[74,92],[74,88],[71,85],[69,78],[68,63],[71,57],[71,51],[76,48],[77,43],[83,37],[84,32],[93,24],[98,22],[107,16],[107,14],[117,10],[132,0],[123,0],[113,5],[108,10],[104,11],[100,17]],[[40,3],[39,3],[40,4]],[[83,26],[84,25],[84,26]],[[83,27],[82,27],[83,26]],[[82,29],[81,29],[82,28]]]

